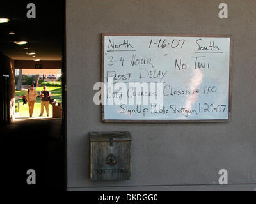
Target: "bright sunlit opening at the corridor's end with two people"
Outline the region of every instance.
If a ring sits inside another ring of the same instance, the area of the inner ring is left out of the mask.
[[[28,92],[32,84],[37,97],[30,117]],[[15,69],[15,87],[15,120],[62,117],[61,69]],[[49,92],[49,98],[45,92]]]

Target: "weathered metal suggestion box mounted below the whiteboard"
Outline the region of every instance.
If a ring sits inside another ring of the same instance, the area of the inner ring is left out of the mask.
[[[91,132],[90,179],[126,180],[131,177],[129,132]]]

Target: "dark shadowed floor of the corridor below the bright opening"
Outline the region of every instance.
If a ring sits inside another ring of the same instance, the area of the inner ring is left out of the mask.
[[[65,190],[61,119],[19,120],[1,128],[1,186],[15,189]],[[28,169],[36,185],[28,185]]]

